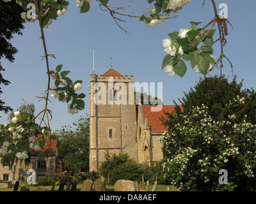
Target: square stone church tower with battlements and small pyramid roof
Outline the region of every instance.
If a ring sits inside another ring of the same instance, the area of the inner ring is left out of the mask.
[[[137,161],[133,76],[111,68],[91,75],[90,85],[90,171],[99,171],[107,152]]]

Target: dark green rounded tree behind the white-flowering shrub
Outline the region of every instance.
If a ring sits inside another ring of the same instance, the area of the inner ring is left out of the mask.
[[[246,104],[240,110],[237,110],[237,119],[243,119],[244,115],[247,115],[248,122],[256,124],[256,94],[253,89],[242,89],[243,80],[238,84],[236,76],[232,82],[228,82],[228,78],[225,75],[218,77],[205,77],[200,78],[198,84],[190,89],[188,93],[184,92],[184,97],[178,99],[180,105],[183,107],[183,112],[188,113],[191,108],[201,106],[204,104],[208,107],[209,113],[214,120],[221,120],[225,115],[221,115],[225,106],[229,101],[237,96],[244,98]],[[173,101],[176,112],[180,113],[180,107],[177,101]],[[165,126],[172,126],[177,123],[173,119],[172,113],[166,113],[168,115],[167,120],[163,120]]]

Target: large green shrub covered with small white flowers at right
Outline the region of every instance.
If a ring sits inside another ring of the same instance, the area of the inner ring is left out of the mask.
[[[167,159],[164,177],[182,191],[255,191],[256,126],[246,115],[236,120],[234,108],[243,108],[244,98],[234,98],[212,120],[206,106],[177,114],[175,126],[161,137]],[[228,184],[220,185],[221,169],[228,171]]]

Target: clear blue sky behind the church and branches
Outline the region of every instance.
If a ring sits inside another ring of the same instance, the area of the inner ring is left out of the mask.
[[[190,21],[207,24],[214,18],[211,1],[207,0],[202,9],[203,0],[191,0],[179,11],[178,17],[169,19],[164,23],[148,27],[138,18],[125,18],[127,22],[122,27],[131,32],[125,34],[113,18],[106,11],[102,11],[95,0],[91,4],[88,13],[79,13],[79,8],[74,0],[70,1],[65,15],[54,20],[48,29],[44,29],[49,54],[54,54],[56,59],[50,59],[52,70],[58,64],[63,64],[63,70],[70,70],[68,74],[72,80],[83,80],[83,89],[80,92],[86,94],[85,110],[76,115],[67,112],[67,103],[58,102],[54,98],[49,103],[52,110],[51,128],[60,129],[62,126],[77,122],[81,116],[89,113],[89,89],[90,75],[93,72],[93,48],[95,48],[95,73],[103,74],[110,68],[112,57],[113,68],[122,75],[134,75],[134,82],[163,82],[163,103],[172,105],[173,100],[184,96],[191,87],[196,85],[200,77],[188,65],[188,71],[183,78],[175,75],[169,77],[161,70],[161,64],[165,53],[162,40],[168,38],[168,33],[179,31],[180,28],[189,27]],[[122,1],[131,4],[131,1]],[[256,67],[254,62],[256,31],[254,21],[256,19],[256,1],[218,1],[228,5],[228,18],[234,29],[228,26],[227,45],[224,48],[225,55],[230,59],[237,75],[237,82],[243,82],[243,89],[255,89]],[[118,5],[118,1],[109,1],[109,4]],[[127,13],[141,15],[147,8],[147,0],[137,0]],[[172,15],[171,15],[172,16]],[[36,96],[47,88],[47,75],[40,28],[38,22],[26,23],[23,35],[15,35],[12,44],[19,52],[15,55],[13,63],[3,59],[2,65],[6,71],[3,77],[12,84],[1,86],[3,94],[1,99],[7,106],[14,110],[18,108],[24,98],[28,103],[34,103],[36,112],[44,108],[44,101],[39,101]],[[217,36],[215,36],[216,39]],[[219,44],[214,45],[214,54],[219,54]],[[233,78],[230,64],[225,61],[223,73],[226,77]],[[220,75],[216,69],[211,75]],[[51,82],[51,85],[53,81]],[[0,112],[0,124],[8,123],[7,114]]]

